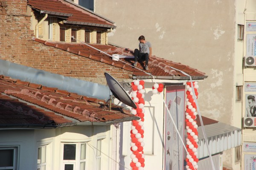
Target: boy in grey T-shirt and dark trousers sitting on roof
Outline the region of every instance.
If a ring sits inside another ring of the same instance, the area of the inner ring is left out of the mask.
[[[151,43],[145,41],[145,37],[143,35],[141,35],[138,40],[140,41],[140,51],[138,49],[134,50],[134,67],[137,66],[137,60],[145,59],[145,70],[148,70],[148,60],[150,59],[152,54]]]

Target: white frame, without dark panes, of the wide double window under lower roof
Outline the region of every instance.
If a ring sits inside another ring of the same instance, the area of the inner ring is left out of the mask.
[[[76,157],[74,160],[64,160],[64,144],[76,144]],[[85,144],[85,159],[81,159],[81,145]],[[73,164],[73,170],[80,170],[81,163],[85,163],[85,170],[87,167],[86,164],[87,159],[87,142],[61,142],[61,164],[64,170],[65,164]]]

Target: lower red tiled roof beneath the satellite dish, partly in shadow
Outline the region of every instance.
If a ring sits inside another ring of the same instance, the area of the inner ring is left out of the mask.
[[[0,127],[58,127],[138,119],[129,110],[112,106],[109,111],[102,108],[104,104],[104,100],[0,75]]]

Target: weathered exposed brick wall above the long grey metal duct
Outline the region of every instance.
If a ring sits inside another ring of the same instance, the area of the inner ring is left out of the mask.
[[[26,0],[0,0],[0,59],[64,76],[106,84],[104,72],[129,79],[131,72],[32,40]]]

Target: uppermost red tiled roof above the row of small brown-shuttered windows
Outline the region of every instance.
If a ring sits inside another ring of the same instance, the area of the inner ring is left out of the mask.
[[[28,0],[28,5],[38,9],[41,13],[54,14],[67,17],[67,23],[116,28],[113,23],[105,20],[92,12],[79,8],[63,0]]]

